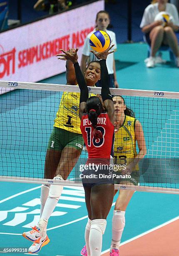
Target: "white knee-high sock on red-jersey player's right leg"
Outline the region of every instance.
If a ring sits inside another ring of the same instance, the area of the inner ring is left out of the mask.
[[[106,228],[106,220],[91,220],[89,246],[91,256],[100,256],[102,250],[102,235]]]

